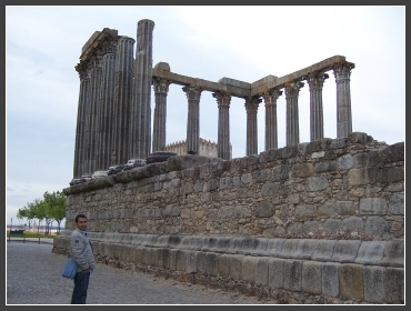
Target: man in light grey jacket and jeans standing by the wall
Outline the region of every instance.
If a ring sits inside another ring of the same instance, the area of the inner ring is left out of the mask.
[[[96,269],[96,261],[91,242],[87,237],[87,217],[84,214],[76,217],[76,229],[70,235],[69,252],[79,267],[74,277],[71,304],[86,304],[90,273]]]

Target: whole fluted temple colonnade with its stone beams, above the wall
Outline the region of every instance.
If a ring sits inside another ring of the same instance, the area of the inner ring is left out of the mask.
[[[310,88],[310,138],[324,138],[322,87],[332,71],[337,83],[338,138],[352,132],[350,74],[354,63],[334,56],[284,77],[268,76],[249,83],[229,78],[218,82],[174,73],[167,62],[152,67],[154,22],[140,20],[136,40],[119,36],[114,29],[96,31],[81,50],[76,70],[80,76],[73,178],[147,159],[150,152],[166,148],[167,94],[171,83],[182,86],[188,99],[187,154],[199,154],[199,103],[201,93],[212,92],[217,100],[218,158],[231,159],[230,101],[244,99],[247,110],[247,153],[258,153],[257,111],[265,106],[264,150],[278,148],[277,100],[287,99],[287,146],[298,144],[299,90]],[[156,107],[151,139],[151,87]],[[152,148],[151,148],[152,142]]]

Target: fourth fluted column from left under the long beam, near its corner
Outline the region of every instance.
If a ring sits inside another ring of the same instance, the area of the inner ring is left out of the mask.
[[[245,99],[247,111],[247,148],[245,156],[258,154],[257,110],[262,100],[258,97]]]

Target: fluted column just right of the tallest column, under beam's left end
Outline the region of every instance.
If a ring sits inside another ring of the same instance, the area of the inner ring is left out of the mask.
[[[166,79],[153,78],[152,87],[156,96],[154,129],[152,138],[152,151],[164,151],[166,147],[166,120],[167,120],[167,93],[170,82]]]

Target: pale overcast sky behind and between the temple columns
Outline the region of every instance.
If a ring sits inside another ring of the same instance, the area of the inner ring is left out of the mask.
[[[351,72],[352,130],[388,144],[404,141],[405,7],[7,7],[7,211],[62,191],[73,178],[79,62],[86,41],[103,28],[136,39],[150,19],[153,63],[218,81],[252,83],[282,77],[333,56]],[[136,48],[136,44],[134,44]],[[337,138],[335,79],[323,88],[324,137]],[[151,96],[154,110],[154,96]],[[299,96],[300,142],[310,141],[309,87]],[[186,139],[187,98],[171,84],[167,143]],[[258,150],[264,150],[264,104],[258,110]],[[200,137],[217,142],[218,108],[200,101]],[[279,148],[285,146],[285,97],[278,100]],[[151,123],[153,124],[153,123]],[[244,100],[230,106],[233,158],[245,156]],[[20,221],[20,223],[23,223]]]

